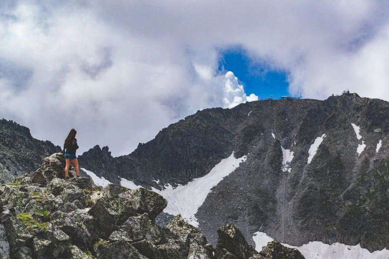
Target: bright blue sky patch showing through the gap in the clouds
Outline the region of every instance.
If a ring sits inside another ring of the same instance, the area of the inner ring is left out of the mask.
[[[250,58],[241,48],[220,51],[218,72],[227,71],[234,73],[247,95],[253,93],[259,100],[290,95],[286,71],[271,69],[266,63]]]

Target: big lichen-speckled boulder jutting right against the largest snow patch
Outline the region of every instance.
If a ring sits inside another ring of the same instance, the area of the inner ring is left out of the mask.
[[[144,188],[130,190],[119,194],[119,196],[131,200],[136,212],[138,214],[148,213],[150,219],[155,219],[167,206],[167,200],[161,195]]]

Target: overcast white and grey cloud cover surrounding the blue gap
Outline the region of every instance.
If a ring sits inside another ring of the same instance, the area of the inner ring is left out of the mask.
[[[388,11],[387,0],[1,0],[0,118],[128,154],[197,110],[255,100],[218,71],[236,47],[287,73],[290,94],[389,100]]]

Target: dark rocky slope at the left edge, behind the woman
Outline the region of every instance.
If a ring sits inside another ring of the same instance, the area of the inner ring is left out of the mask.
[[[60,151],[61,148],[50,141],[33,138],[28,128],[0,120],[0,183],[35,172],[45,157]]]

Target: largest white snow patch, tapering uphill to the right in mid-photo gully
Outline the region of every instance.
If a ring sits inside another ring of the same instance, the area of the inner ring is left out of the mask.
[[[153,187],[152,190],[161,194],[167,200],[167,206],[163,212],[174,216],[180,213],[186,222],[198,227],[199,223],[195,214],[211,192],[211,189],[231,174],[246,159],[247,156],[234,158],[232,153],[230,157],[223,159],[207,175],[196,178],[185,186],[178,185],[178,187],[173,188],[171,185],[167,185],[162,191]]]

